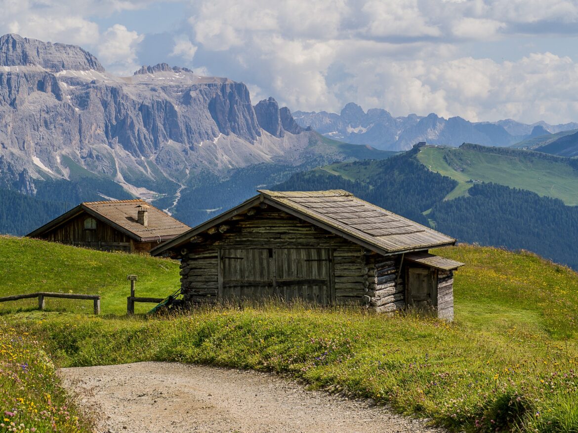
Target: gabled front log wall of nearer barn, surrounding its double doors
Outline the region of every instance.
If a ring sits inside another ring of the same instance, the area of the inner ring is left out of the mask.
[[[223,248],[327,248],[332,260],[332,303],[363,304],[375,270],[364,249],[273,207],[251,208],[175,251],[187,301],[217,300],[218,251]]]

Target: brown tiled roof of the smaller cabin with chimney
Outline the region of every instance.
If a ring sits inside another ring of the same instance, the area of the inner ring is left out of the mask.
[[[139,206],[146,206],[149,217],[147,226],[143,226],[137,221]],[[100,221],[108,223],[139,242],[165,241],[191,229],[191,227],[151,206],[144,200],[85,201],[65,214],[58,216],[58,218],[53,219],[53,221],[34,230],[34,232],[27,234],[27,236],[38,237],[42,233],[55,229],[83,211]]]

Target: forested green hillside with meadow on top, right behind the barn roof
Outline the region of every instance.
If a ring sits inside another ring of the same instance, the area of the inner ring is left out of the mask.
[[[434,152],[428,153],[430,150]],[[527,249],[578,269],[578,206],[566,206],[561,199],[546,194],[563,192],[573,203],[571,197],[578,189],[572,195],[570,186],[576,182],[573,167],[578,166],[578,160],[476,145],[462,145],[462,152],[458,150],[454,158],[454,150],[447,150],[447,154],[446,150],[414,148],[386,160],[332,164],[294,174],[272,189],[345,189],[458,241]],[[439,157],[431,161],[445,171],[432,170],[433,163],[425,165],[420,159],[424,152]],[[448,160],[455,162],[449,165]],[[458,168],[458,163],[464,168]],[[472,177],[464,174],[470,166],[477,170]],[[562,173],[568,178],[556,178]],[[509,186],[491,183],[497,180]],[[557,188],[553,182],[559,182]],[[518,188],[513,188],[516,185]]]

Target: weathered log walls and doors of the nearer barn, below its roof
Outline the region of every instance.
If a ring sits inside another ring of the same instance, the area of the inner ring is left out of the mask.
[[[415,304],[408,274],[417,269],[432,278],[428,308],[439,305],[440,318],[453,318],[452,271],[372,251],[271,204],[235,212],[172,252],[190,303],[279,297],[393,313]]]

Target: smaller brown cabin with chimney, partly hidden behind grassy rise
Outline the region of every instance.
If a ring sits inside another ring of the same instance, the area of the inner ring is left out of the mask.
[[[190,229],[143,200],[87,201],[26,236],[102,251],[148,253]]]

